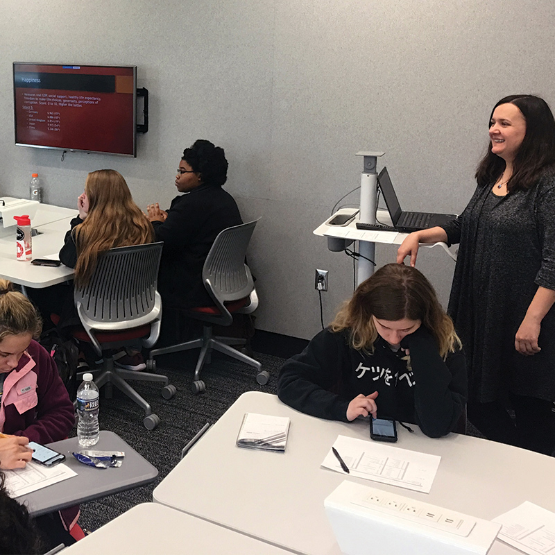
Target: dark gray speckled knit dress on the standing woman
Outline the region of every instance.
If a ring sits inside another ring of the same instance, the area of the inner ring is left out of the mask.
[[[555,176],[506,196],[478,187],[442,227],[449,244],[460,244],[447,311],[466,353],[469,402],[507,391],[555,400],[555,305],[542,321],[541,351],[515,350],[538,286],[555,289]]]

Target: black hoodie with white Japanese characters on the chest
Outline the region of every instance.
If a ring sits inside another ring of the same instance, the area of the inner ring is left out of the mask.
[[[380,418],[413,422],[430,437],[454,429],[466,404],[466,370],[461,351],[440,357],[432,334],[420,327],[401,343],[409,348],[411,370],[378,337],[372,355],[348,344],[348,332],[320,332],[280,371],[278,396],[318,418],[347,422],[347,407],[360,393],[378,391]]]

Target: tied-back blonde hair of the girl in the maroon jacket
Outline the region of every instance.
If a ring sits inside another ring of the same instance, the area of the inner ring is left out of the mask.
[[[42,321],[33,303],[0,278],[0,341],[8,335],[31,334],[38,339]]]

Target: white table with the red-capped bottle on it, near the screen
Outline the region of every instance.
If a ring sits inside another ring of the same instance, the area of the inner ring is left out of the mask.
[[[76,210],[41,204],[31,221],[39,232],[33,237],[33,258],[57,258],[69,230],[69,222],[78,215]],[[15,226],[0,230],[0,275],[25,287],[50,287],[71,280],[73,268],[32,266],[15,258]]]

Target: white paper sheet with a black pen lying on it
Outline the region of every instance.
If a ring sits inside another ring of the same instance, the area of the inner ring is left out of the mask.
[[[337,436],[333,446],[348,466],[350,476],[423,493],[432,489],[441,461],[441,456],[341,435]],[[345,475],[331,449],[322,466]]]

